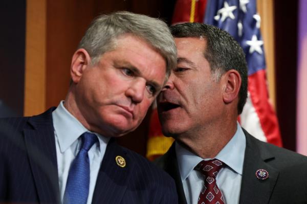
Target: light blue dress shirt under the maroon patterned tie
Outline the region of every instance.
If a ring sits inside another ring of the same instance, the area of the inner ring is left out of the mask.
[[[227,165],[216,176],[216,184],[227,204],[239,203],[245,147],[245,134],[237,124],[237,130],[233,138],[214,157]],[[201,158],[177,142],[176,156],[187,203],[197,204],[204,186],[204,179],[201,172],[194,170],[194,167],[202,160],[211,160],[213,158]]]

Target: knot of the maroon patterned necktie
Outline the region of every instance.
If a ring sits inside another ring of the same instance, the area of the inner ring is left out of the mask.
[[[218,171],[220,171],[223,166],[224,163],[220,160],[203,160],[198,165],[196,165],[194,169],[200,171],[205,176],[216,177]]]

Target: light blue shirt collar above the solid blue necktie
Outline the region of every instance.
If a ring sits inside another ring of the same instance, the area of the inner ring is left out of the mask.
[[[70,112],[64,107],[64,101],[61,101],[58,107],[52,112],[53,127],[56,137],[59,141],[61,153],[67,150],[84,132],[91,132],[86,129]],[[109,138],[92,132],[97,135],[100,147],[106,146]]]

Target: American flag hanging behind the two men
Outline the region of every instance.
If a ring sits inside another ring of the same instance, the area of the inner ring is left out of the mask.
[[[269,102],[264,41],[256,0],[178,0],[172,24],[188,21],[216,26],[238,41],[248,64],[248,99],[239,117],[240,124],[255,138],[282,146],[277,117]],[[150,129],[161,128],[152,124]],[[158,141],[161,134],[149,131],[149,141],[152,138]],[[147,146],[147,155],[153,149],[152,144]]]

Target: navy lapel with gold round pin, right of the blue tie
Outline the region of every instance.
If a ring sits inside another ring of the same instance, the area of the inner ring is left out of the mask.
[[[117,156],[124,158],[125,167],[117,164],[115,159]],[[133,169],[134,162],[130,155],[111,139],[103,156],[92,203],[120,203],[134,172]]]

